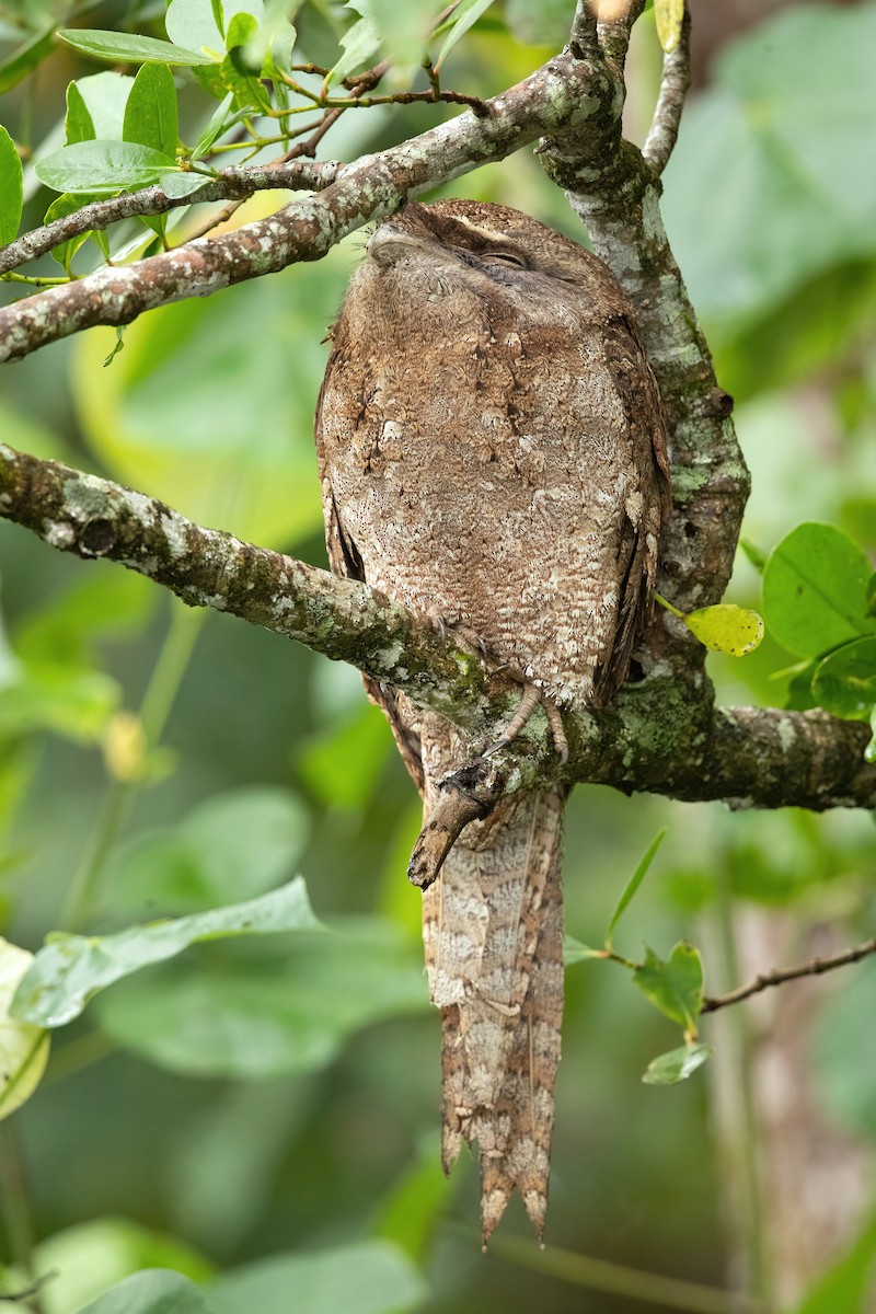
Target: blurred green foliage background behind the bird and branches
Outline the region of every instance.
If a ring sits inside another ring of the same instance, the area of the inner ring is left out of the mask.
[[[406,11],[399,46],[426,8]],[[278,21],[286,9],[267,5]],[[377,22],[387,12],[377,0],[356,9]],[[53,200],[33,158],[60,150],[64,113],[67,139],[92,141],[84,106],[96,138],[121,142],[133,87],[46,33],[87,22],[164,38],[163,13],[158,0],[7,4],[0,108],[26,147],[22,227]],[[494,5],[452,49],[443,80],[500,91],[557,49],[570,13],[566,0]],[[301,5],[296,59],[331,67],[356,17],[336,0]],[[647,120],[659,62],[650,16],[640,29],[632,124]],[[718,376],[737,396],[754,476],[745,533],[760,561],[801,520],[876,548],[875,39],[876,4],[813,4],[728,43],[691,99],[666,173],[670,238]],[[240,59],[222,68],[232,87],[222,113],[232,116],[252,71]],[[66,102],[71,79],[81,104]],[[211,148],[225,87],[213,84],[210,99],[180,67],[173,83],[183,139]],[[160,108],[167,79],[150,95]],[[452,113],[349,113],[322,154],[353,158]],[[169,154],[165,126],[147,145]],[[3,159],[14,171],[8,150]],[[583,237],[531,151],[447,191]],[[9,196],[5,226],[17,209]],[[250,202],[236,219],[268,204]],[[155,240],[135,223],[110,235],[113,251]],[[108,368],[112,331],[45,348],[4,374],[3,439],[324,564],[310,428],[320,339],[360,244],[152,313],[126,330]],[[93,243],[75,254],[81,269],[101,259]],[[34,271],[53,276],[58,265],[45,259]],[[3,284],[4,296],[17,290]],[[508,1244],[481,1256],[473,1166],[460,1164],[449,1184],[440,1175],[439,1018],[419,966],[419,896],[405,883],[416,800],[355,673],[226,616],[201,624],[138,577],[54,555],[5,523],[0,568],[0,930],[30,949],[76,920],[112,938],[155,916],[257,899],[296,874],[330,925],[201,943],[112,986],[55,1035],[47,1077],[0,1147],[4,1259],[16,1261],[0,1277],[5,1290],[54,1269],[38,1296],[43,1314],[271,1314],[290,1307],[290,1293],[299,1314],[640,1310],[617,1288],[592,1293],[515,1267],[515,1247],[533,1243],[514,1212]],[[733,599],[759,606],[759,589],[741,556]],[[779,622],[745,662],[711,656],[718,696],[784,703],[795,653],[823,645],[792,641],[784,652],[783,639]],[[676,941],[695,940],[709,992],[738,983],[739,928],[751,917],[762,928],[792,917],[792,957],[808,954],[814,924],[830,924],[835,945],[872,934],[867,816],[728,815],[579,788],[566,859],[573,936],[599,943],[663,825],[623,934],[632,946],[646,937],[667,959]],[[822,986],[808,1022],[813,1100],[864,1156],[876,1137],[872,964]],[[567,996],[550,1239],[619,1272],[722,1285],[728,1200],[742,1192],[743,1209],[754,1208],[722,1138],[755,1156],[759,1146],[743,1114],[716,1130],[718,1106],[730,1097],[743,1106],[750,1083],[745,1063],[720,1060],[735,1053],[734,1028],[751,1050],[753,1024],[709,1020],[716,1062],[662,1091],[641,1075],[676,1043],[678,1025],[599,962],[569,974]],[[688,1062],[682,1051],[676,1068]],[[876,1235],[865,1217],[860,1226],[799,1314],[871,1307]]]

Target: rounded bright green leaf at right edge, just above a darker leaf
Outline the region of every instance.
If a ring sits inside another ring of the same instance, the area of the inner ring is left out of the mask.
[[[867,553],[833,524],[799,524],[776,544],[763,572],[770,633],[789,652],[818,657],[876,632],[867,616]]]

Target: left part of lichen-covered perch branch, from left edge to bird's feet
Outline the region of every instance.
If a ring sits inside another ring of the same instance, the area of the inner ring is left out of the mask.
[[[418,624],[355,579],[194,524],[163,502],[58,461],[0,444],[0,515],[62,552],[105,557],[164,585],[192,607],[215,607],[352,662],[377,681],[475,716],[487,677],[477,657]],[[405,670],[399,671],[399,666]],[[428,692],[427,692],[428,687]]]

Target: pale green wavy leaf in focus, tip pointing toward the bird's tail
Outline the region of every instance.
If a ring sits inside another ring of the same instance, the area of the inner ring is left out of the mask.
[[[260,899],[210,912],[131,926],[117,936],[55,936],[39,950],[13,1001],[13,1016],[42,1026],[79,1017],[113,982],[180,954],[189,945],[225,936],[318,930],[301,876]]]

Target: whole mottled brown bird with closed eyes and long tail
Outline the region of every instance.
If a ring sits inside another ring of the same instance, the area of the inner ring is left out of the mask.
[[[506,206],[408,204],[351,283],[317,444],[336,573],[474,632],[559,708],[611,698],[650,614],[668,485],[657,385],[602,261]],[[393,689],[369,692],[428,815],[470,745]],[[478,1142],[485,1238],[515,1189],[544,1223],[562,802],[506,799],[424,895],[444,1162]]]

